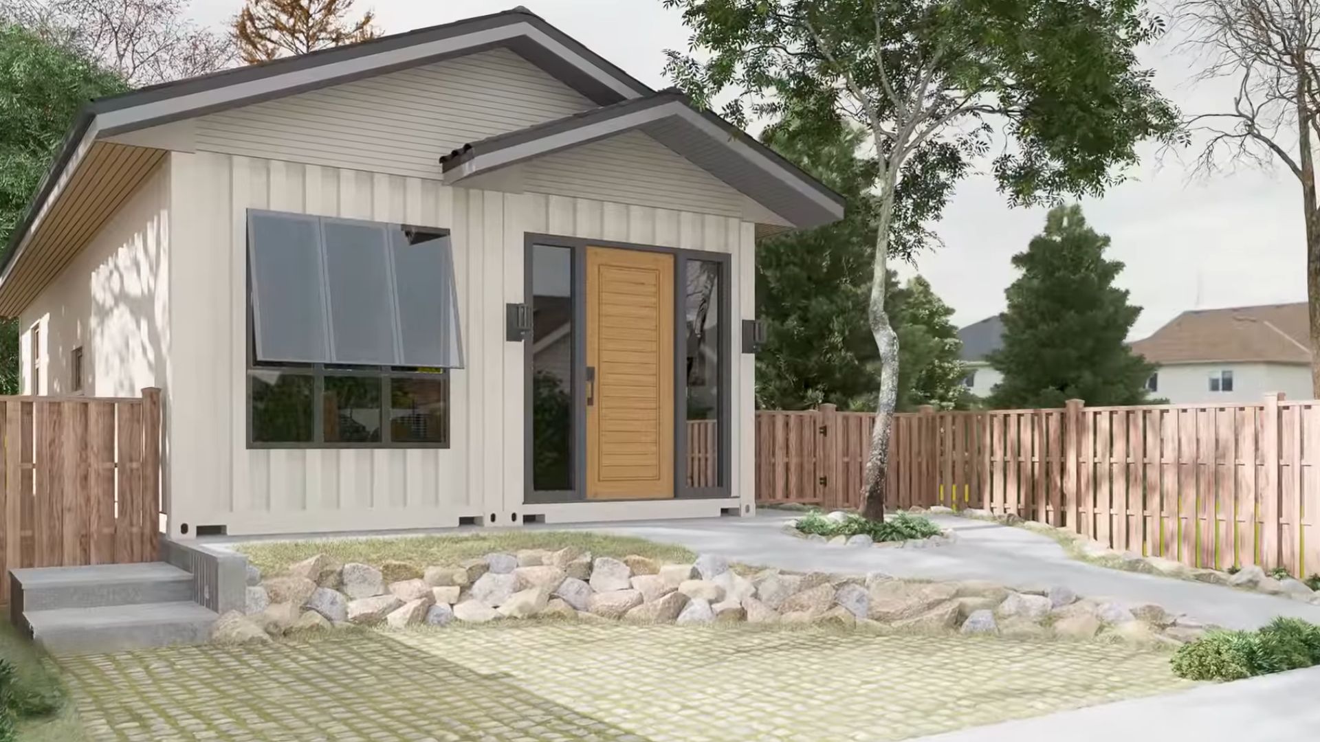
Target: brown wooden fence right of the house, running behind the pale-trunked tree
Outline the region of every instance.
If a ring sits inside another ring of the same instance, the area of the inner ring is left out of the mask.
[[[756,419],[756,499],[857,507],[874,415]],[[982,508],[1121,551],[1320,572],[1320,401],[895,416],[890,507]]]

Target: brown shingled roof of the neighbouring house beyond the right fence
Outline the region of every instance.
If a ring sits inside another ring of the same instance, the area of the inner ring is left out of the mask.
[[[1307,305],[1193,309],[1133,343],[1151,363],[1311,363]]]

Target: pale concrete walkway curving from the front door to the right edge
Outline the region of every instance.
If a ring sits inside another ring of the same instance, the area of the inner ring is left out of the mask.
[[[991,580],[1011,588],[1067,585],[1078,595],[1139,605],[1158,603],[1173,613],[1228,628],[1255,628],[1276,615],[1320,623],[1320,606],[1154,574],[1094,566],[1068,557],[1047,536],[982,520],[932,516],[954,528],[958,541],[933,549],[830,547],[783,532],[793,514],[766,511],[756,518],[609,523],[579,527],[682,544],[734,561],[783,569],[867,573],[923,580]]]

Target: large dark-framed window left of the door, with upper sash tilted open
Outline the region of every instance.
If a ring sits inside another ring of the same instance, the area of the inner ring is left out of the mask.
[[[449,445],[449,232],[248,213],[249,441]]]

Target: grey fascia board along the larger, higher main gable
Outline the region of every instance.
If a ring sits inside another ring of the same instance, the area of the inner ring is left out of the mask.
[[[602,70],[531,22],[519,21],[422,44],[355,55],[335,62],[312,65],[288,71],[276,70],[269,75],[236,83],[228,83],[220,78],[213,87],[177,96],[158,98],[136,106],[132,104],[132,95],[129,95],[124,100],[127,104],[110,106],[107,110],[100,111],[96,118],[103,135],[112,136],[183,118],[384,74],[446,57],[510,45],[520,38],[525,38],[552,51],[572,65],[577,73],[606,86],[623,99],[639,98],[645,94],[645,91],[634,90],[615,75]],[[114,103],[114,100],[110,103]]]

